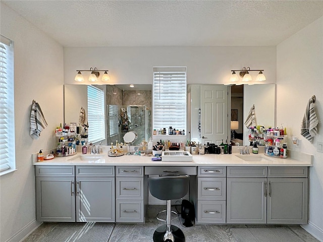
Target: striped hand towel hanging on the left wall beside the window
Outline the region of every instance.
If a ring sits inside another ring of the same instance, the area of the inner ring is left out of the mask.
[[[45,127],[47,127],[47,122],[44,114],[42,113],[38,102],[33,102],[30,112],[30,136],[33,139],[38,140],[40,132],[43,131]]]

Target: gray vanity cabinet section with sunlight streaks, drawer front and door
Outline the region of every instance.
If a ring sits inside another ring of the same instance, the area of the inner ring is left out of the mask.
[[[75,166],[76,221],[115,221],[114,166]]]

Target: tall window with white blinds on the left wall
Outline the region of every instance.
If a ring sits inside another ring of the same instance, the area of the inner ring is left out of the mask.
[[[0,41],[0,174],[16,169],[14,109],[14,44]]]

